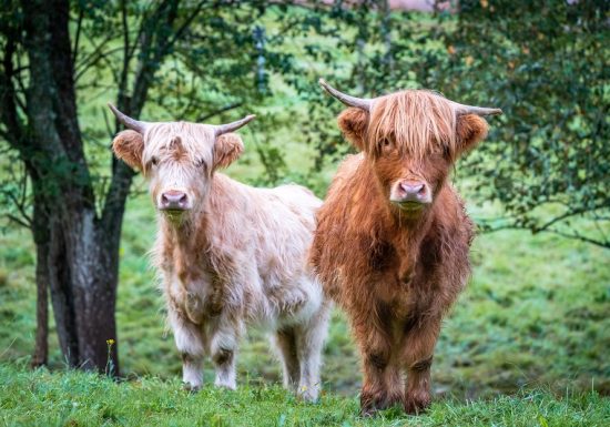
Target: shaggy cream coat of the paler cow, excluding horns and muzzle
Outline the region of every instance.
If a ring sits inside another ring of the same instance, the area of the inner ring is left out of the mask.
[[[169,191],[189,200],[182,213],[160,211],[153,250],[186,385],[201,387],[210,355],[215,384],[235,388],[237,343],[260,325],[274,334],[285,386],[315,400],[331,304],[306,251],[322,202],[297,185],[253,189],[217,173],[243,151],[236,134],[180,122],[152,124],[141,144],[136,136],[124,131],[113,148],[144,172],[153,203]]]

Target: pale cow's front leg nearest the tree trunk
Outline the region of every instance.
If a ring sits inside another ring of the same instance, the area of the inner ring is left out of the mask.
[[[176,348],[182,355],[182,380],[185,388],[197,390],[203,384],[204,346],[201,329],[171,307],[169,318]]]

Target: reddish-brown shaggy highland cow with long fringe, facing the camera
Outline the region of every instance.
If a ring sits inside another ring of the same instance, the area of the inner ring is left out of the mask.
[[[397,403],[418,413],[430,403],[443,317],[470,273],[472,223],[449,171],[486,136],[480,116],[501,110],[423,90],[358,99],[321,84],[350,106],[338,125],[360,153],[339,166],[317,213],[311,262],[352,323],[363,415]]]

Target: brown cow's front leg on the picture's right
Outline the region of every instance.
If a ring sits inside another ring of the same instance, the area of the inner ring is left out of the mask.
[[[408,414],[419,414],[430,404],[430,368],[440,332],[440,318],[426,318],[406,331],[404,360],[407,385],[403,405]]]

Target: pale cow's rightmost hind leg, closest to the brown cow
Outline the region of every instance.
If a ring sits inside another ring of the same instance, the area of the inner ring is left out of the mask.
[[[319,365],[329,314],[331,304],[323,303],[313,317],[295,327],[296,355],[301,368],[297,395],[307,401],[316,401],[322,388]]]

